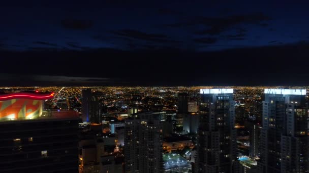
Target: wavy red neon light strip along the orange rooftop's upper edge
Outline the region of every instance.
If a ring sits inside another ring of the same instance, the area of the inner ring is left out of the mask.
[[[0,95],[0,101],[10,99],[34,99],[34,100],[46,100],[53,98],[54,93],[49,94],[33,94],[33,93],[13,93]]]

